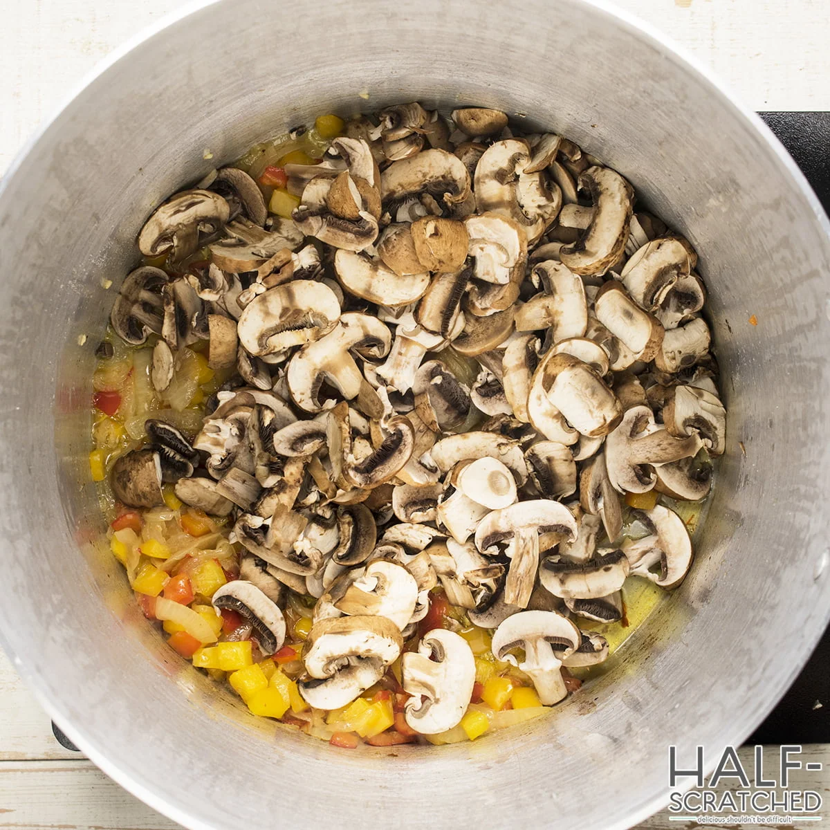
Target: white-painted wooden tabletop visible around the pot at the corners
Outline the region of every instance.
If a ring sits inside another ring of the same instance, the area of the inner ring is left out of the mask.
[[[685,46],[752,109],[830,110],[828,0],[618,3]],[[183,4],[0,0],[0,174],[96,61]],[[825,765],[830,761],[827,748],[812,752]],[[801,774],[795,781],[799,788],[828,788],[827,772]],[[661,813],[642,828],[672,826],[682,825],[668,823]],[[46,713],[0,652],[0,830],[177,827],[58,745]]]

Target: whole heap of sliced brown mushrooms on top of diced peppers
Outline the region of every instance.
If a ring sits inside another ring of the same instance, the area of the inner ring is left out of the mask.
[[[619,173],[496,110],[392,106],[286,174],[291,219],[227,167],[144,225],[144,256],[209,261],[133,271],[115,331],[159,336],[159,391],[198,340],[236,374],[194,440],[148,422],[116,498],[151,508],[174,482],[229,517],[240,579],[213,604],[261,652],[285,641],[291,594],[315,598],[313,707],[353,701],[404,652],[408,724],[456,725],[475,666],[452,619],[417,639],[436,589],[561,701],[563,666],[608,656],[580,620],[618,621],[628,578],[675,588],[691,565],[662,501],[633,511],[647,535],[622,534],[623,496],[701,500],[724,452],[696,252]]]

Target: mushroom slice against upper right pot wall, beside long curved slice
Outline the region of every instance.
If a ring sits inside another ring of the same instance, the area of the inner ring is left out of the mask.
[[[647,242],[627,261],[620,276],[632,300],[655,313],[681,277],[689,276],[691,261],[686,247],[673,237]]]

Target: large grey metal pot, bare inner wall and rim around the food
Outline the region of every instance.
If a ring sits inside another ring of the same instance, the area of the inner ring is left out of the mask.
[[[150,209],[320,112],[407,100],[528,114],[691,239],[730,426],[691,576],[613,671],[525,728],[390,758],[255,721],[175,657],[96,544],[86,459],[93,351]],[[758,119],[587,0],[192,7],[120,51],[3,183],[7,649],[95,763],[189,828],[635,823],[666,800],[667,746],[714,764],[827,622],[828,229]]]

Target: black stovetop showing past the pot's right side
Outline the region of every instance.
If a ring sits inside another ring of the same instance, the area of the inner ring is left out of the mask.
[[[830,112],[762,112],[830,213]],[[830,744],[830,628],[748,744]]]

